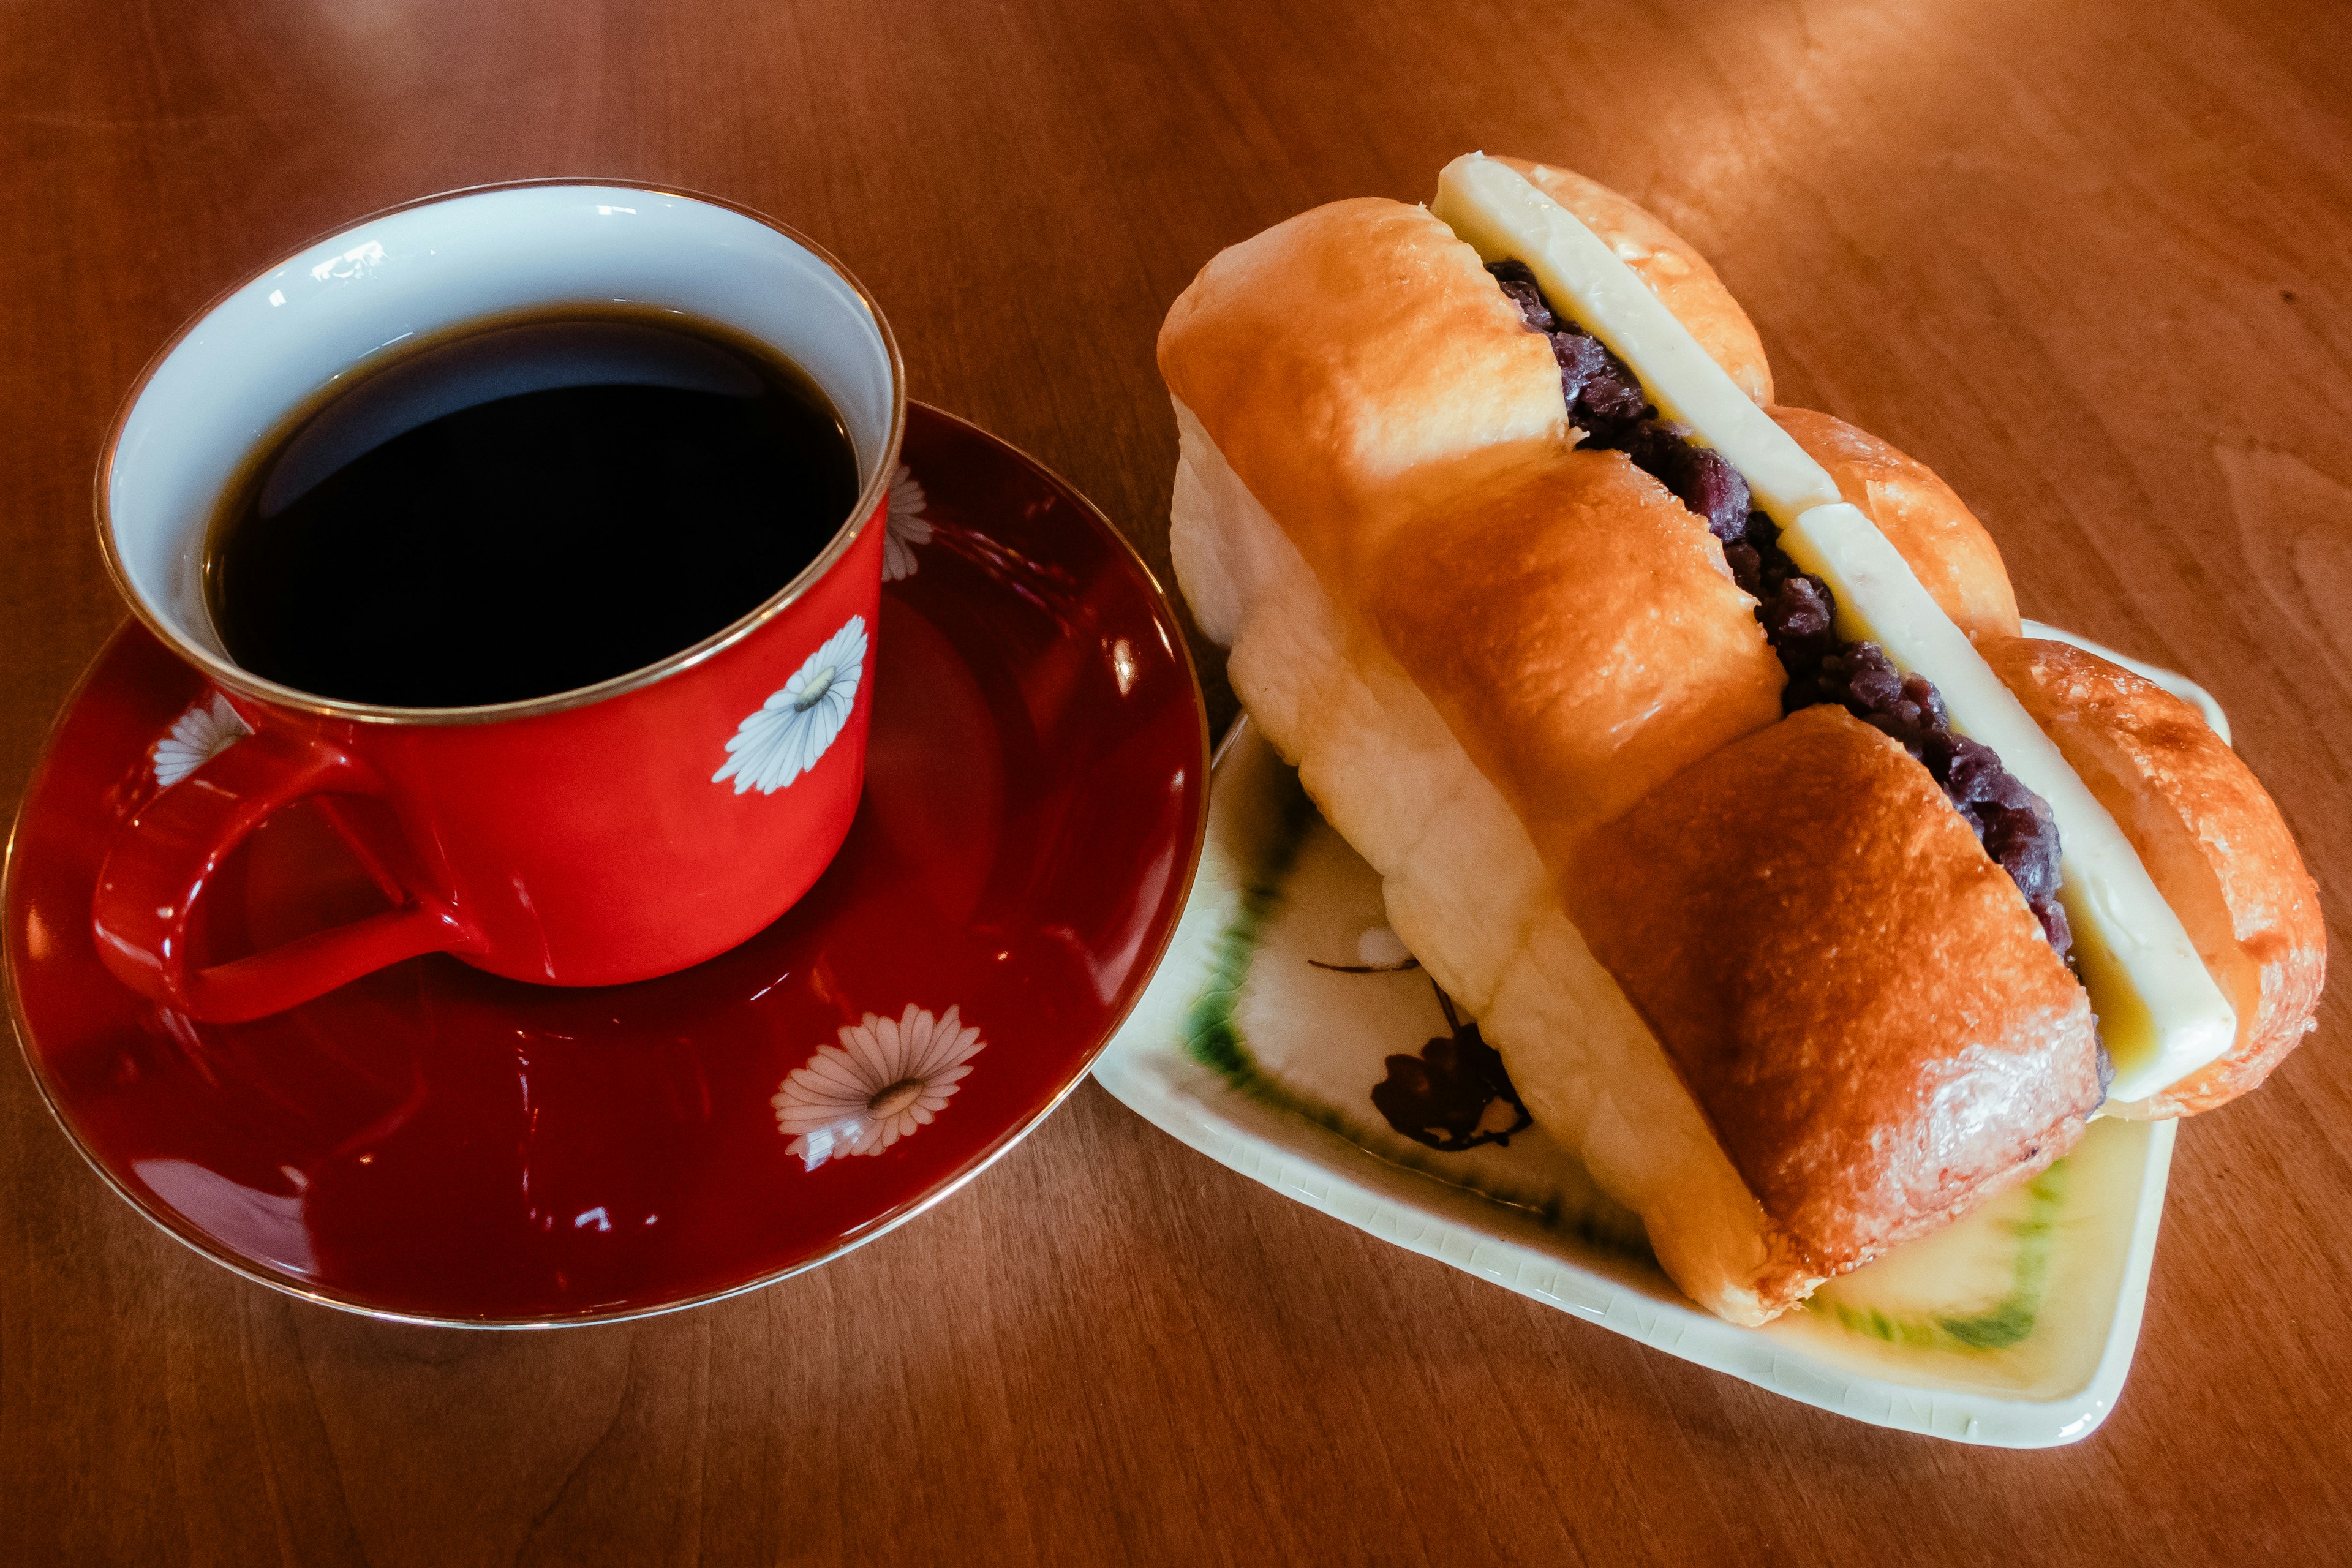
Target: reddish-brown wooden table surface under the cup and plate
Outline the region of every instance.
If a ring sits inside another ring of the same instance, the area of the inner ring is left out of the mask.
[[[1218,247],[1468,148],[1705,249],[1788,402],[1933,463],[2030,616],[2187,670],[2352,886],[2352,7],[2296,0],[14,0],[0,790],[125,611],[89,475],[155,346],[341,219],[713,190],[920,397],[1167,567],[1152,334]],[[1232,698],[1211,672],[1214,719]],[[2345,1561],[2352,985],[2180,1138],[2122,1408],[1994,1453],[1639,1349],[1082,1088],[920,1222],[717,1307],[395,1328],[186,1253],[0,1065],[0,1559]]]

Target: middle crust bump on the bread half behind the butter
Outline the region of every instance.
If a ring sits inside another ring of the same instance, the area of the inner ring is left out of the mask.
[[[1771,416],[1830,470],[1837,494],[1903,552],[1919,585],[1971,642],[2018,635],[2018,595],[2002,548],[1936,470],[1813,409],[1771,409]]]

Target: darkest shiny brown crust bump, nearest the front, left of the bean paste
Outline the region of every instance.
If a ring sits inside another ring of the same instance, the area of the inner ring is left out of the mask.
[[[1818,1274],[2072,1147],[2091,999],[1900,745],[1809,708],[1588,842],[1564,896]]]

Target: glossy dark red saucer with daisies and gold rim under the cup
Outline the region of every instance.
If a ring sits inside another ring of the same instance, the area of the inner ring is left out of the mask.
[[[24,1053],[89,1164],[310,1300],[581,1324],[823,1262],[1011,1147],[1176,926],[1207,726],[1167,599],[1077,491],[922,404],[906,465],[889,555],[913,571],[882,592],[847,846],[750,943],[644,985],[428,957],[247,1025],[125,990],[89,936],[99,860],[160,788],[158,743],[176,776],[230,733],[125,628],[49,738],[5,889]],[[296,809],[207,889],[200,940],[233,957],[376,900]]]

